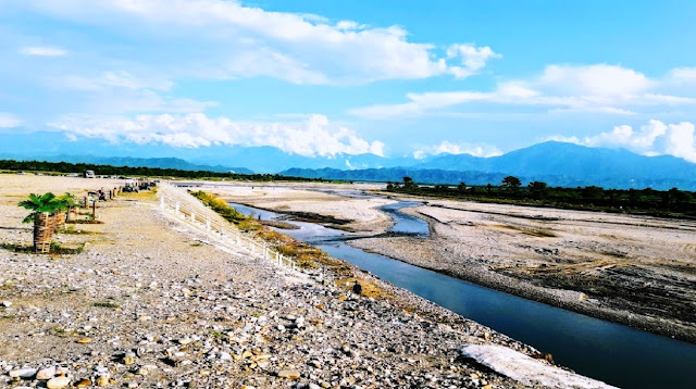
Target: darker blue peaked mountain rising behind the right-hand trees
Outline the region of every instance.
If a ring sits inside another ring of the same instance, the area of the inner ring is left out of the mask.
[[[524,184],[533,180],[551,186],[600,186],[605,188],[654,188],[696,190],[696,164],[669,156],[645,156],[626,150],[600,149],[563,142],[545,142],[505,155],[477,158],[448,154],[410,167],[353,171],[300,170],[282,172],[308,178],[388,181],[410,176],[422,184],[498,185],[507,175]]]

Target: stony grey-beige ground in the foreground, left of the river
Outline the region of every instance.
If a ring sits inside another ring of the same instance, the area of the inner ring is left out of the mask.
[[[15,188],[0,190],[0,242],[28,244],[32,230],[21,224],[26,211],[15,197],[51,183],[0,179]],[[157,204],[142,193],[100,203],[103,224],[58,236],[62,246],[87,243],[78,254],[0,250],[0,387],[549,385],[534,375],[515,380],[462,351],[500,344],[526,359],[537,355],[530,347],[355,268],[381,291],[376,298],[321,268],[277,267]],[[554,386],[602,387],[571,376],[579,381]]]

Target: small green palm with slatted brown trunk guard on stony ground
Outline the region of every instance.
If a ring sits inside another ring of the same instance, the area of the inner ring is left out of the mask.
[[[55,228],[54,214],[65,209],[64,202],[48,192],[41,196],[32,193],[20,206],[32,211],[22,223],[34,223],[34,251],[47,253],[51,247],[51,238]]]

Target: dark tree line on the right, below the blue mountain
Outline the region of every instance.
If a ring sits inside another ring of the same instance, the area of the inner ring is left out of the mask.
[[[598,186],[563,188],[543,181],[522,185],[520,178],[505,177],[499,185],[418,185],[411,177],[387,183],[387,191],[425,195],[484,202],[501,202],[575,210],[642,213],[656,216],[696,217],[696,192],[670,190],[605,189]]]

